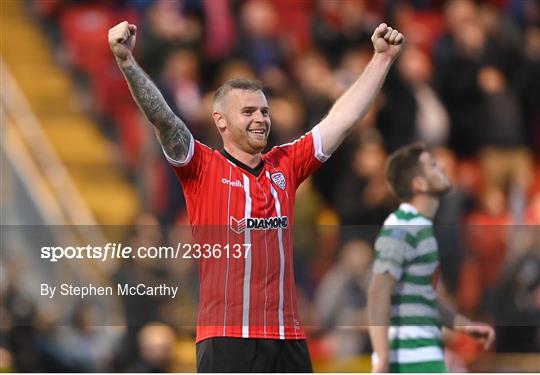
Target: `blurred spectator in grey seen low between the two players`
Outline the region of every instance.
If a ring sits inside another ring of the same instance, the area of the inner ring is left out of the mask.
[[[347,358],[367,351],[366,290],[372,259],[366,242],[347,242],[317,288],[315,319],[323,332],[323,346],[332,356]]]

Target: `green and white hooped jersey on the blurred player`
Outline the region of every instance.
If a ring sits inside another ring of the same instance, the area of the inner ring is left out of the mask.
[[[433,285],[439,256],[432,221],[401,204],[384,222],[375,252],[373,271],[397,280],[388,332],[390,371],[446,372]]]

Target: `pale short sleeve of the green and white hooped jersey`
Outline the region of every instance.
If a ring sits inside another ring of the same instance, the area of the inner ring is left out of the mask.
[[[406,260],[406,236],[403,228],[385,226],[381,229],[375,241],[374,273],[388,272],[397,281],[401,279]]]

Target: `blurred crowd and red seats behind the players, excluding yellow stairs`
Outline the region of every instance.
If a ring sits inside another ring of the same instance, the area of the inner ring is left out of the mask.
[[[380,22],[400,30],[406,49],[373,107],[298,191],[295,272],[304,320],[316,327],[310,331],[312,356],[370,352],[365,291],[372,240],[397,207],[385,183],[385,160],[414,141],[433,149],[454,184],[435,224],[443,279],[456,305],[497,326],[497,352],[540,350],[539,1],[28,0],[26,5],[58,63],[72,73],[88,113],[118,146],[118,168],[140,194],[144,212],[134,218],[133,241],[146,235],[139,233],[148,228],[141,224],[151,224],[162,228],[152,236],[174,243],[176,225],[187,224],[187,217],[176,176],[109,51],[110,27],[123,20],[138,26],[137,61],[196,139],[214,148],[221,144],[211,118],[213,92],[226,80],[263,82],[272,147],[304,134],[325,116],[369,62],[371,33]],[[193,293],[184,298],[195,301],[196,264],[175,267],[132,262],[111,277],[181,279]],[[19,352],[5,355],[13,356],[19,371],[193,370],[189,359],[178,360],[186,352],[179,345],[193,346],[186,344],[192,343],[193,330],[177,329],[194,325],[193,303],[182,311],[190,316],[186,323],[177,318],[186,304],[123,301],[123,330],[92,327],[83,306],[74,312],[78,323],[64,327],[70,332],[55,337],[45,322],[29,324],[28,319],[39,320],[30,316],[37,314],[31,301],[17,301],[24,297],[6,289],[3,309],[8,327],[17,332],[8,336]],[[29,307],[21,310],[21,303]],[[459,358],[456,369],[481,352],[461,336],[449,337],[448,346]],[[81,356],[85,348],[97,349]],[[2,350],[0,345],[0,356]]]

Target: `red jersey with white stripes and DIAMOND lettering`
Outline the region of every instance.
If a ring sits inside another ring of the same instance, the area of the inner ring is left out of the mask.
[[[305,338],[293,275],[295,191],[327,158],[318,127],[272,148],[255,169],[193,139],[184,162],[167,156],[196,241],[221,247],[219,256],[199,260],[197,342]]]

